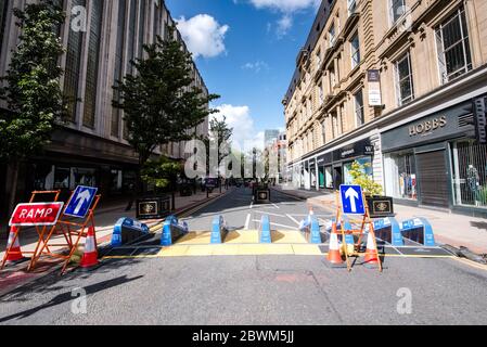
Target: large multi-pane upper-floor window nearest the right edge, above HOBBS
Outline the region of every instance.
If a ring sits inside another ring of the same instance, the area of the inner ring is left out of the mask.
[[[465,10],[460,8],[436,29],[441,82],[448,82],[472,69]]]

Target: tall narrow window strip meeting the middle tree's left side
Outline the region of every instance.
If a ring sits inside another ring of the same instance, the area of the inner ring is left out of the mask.
[[[124,42],[125,42],[125,23],[126,21],[126,0],[118,1],[118,20],[117,20],[117,47],[115,51],[115,74],[114,74],[114,85],[116,80],[121,80],[124,75]],[[114,100],[119,100],[119,93],[114,90]],[[118,138],[120,128],[120,110],[113,107],[112,110],[112,127],[111,133],[113,137]]]

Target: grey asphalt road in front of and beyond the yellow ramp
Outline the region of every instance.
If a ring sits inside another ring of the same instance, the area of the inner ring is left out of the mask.
[[[262,213],[293,229],[307,206],[279,193],[251,206],[241,189],[185,219],[204,230],[222,214],[242,230]],[[486,269],[456,259],[386,258],[383,273],[320,256],[113,259],[0,297],[0,324],[485,324],[486,295]]]

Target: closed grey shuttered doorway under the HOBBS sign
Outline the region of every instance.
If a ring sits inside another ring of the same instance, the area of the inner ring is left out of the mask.
[[[422,205],[448,208],[448,170],[445,150],[416,154]]]

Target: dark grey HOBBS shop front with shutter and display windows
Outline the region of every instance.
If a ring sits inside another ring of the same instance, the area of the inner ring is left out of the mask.
[[[487,146],[472,101],[382,133],[386,194],[396,202],[487,213]]]

